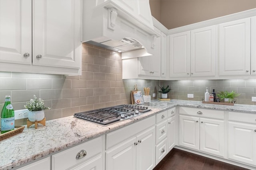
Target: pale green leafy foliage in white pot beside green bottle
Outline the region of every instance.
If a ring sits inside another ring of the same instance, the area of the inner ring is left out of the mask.
[[[34,95],[34,99],[30,99],[27,105],[24,106],[29,111],[40,111],[40,110],[47,110],[51,109],[50,107],[44,107],[44,100],[40,98],[36,98]]]

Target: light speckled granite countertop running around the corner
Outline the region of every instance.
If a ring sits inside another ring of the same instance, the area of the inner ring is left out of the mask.
[[[150,106],[148,106],[152,111],[106,126],[73,116],[54,119],[46,121],[46,126],[39,125],[38,129],[25,127],[22,133],[0,141],[0,170],[10,170],[43,156],[49,156],[59,150],[99,137],[175,106],[256,114],[256,106],[253,105],[235,104],[234,106],[226,106],[202,104],[202,102],[187,100],[152,100]]]

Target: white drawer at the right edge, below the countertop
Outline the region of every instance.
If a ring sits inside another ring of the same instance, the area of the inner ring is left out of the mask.
[[[241,112],[229,111],[228,112],[228,120],[256,124],[256,114],[255,113],[241,113]]]

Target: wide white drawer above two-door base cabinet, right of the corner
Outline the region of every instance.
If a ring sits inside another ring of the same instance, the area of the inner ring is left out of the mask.
[[[193,115],[193,116],[199,116],[199,117],[209,117],[209,118],[224,120],[224,111],[219,111],[214,109],[180,107],[179,113],[183,115]]]

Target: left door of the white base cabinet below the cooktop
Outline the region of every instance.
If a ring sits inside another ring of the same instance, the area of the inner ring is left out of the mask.
[[[136,137],[106,151],[106,170],[136,169]],[[152,141],[151,141],[152,142]]]

